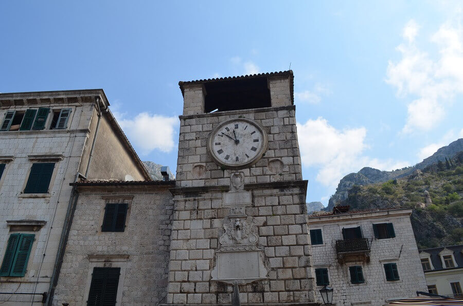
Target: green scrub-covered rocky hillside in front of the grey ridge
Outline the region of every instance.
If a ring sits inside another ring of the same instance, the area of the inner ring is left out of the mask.
[[[463,151],[408,176],[354,185],[340,205],[352,210],[414,207],[413,231],[420,248],[463,243]]]

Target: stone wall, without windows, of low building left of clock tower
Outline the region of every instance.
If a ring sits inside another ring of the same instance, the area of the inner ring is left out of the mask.
[[[85,305],[95,266],[121,267],[117,305],[164,302],[173,209],[169,187],[79,187],[54,305]],[[106,203],[129,203],[124,232],[101,232]]]

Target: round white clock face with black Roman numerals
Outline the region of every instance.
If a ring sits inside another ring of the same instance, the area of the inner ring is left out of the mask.
[[[247,119],[220,124],[209,138],[209,151],[219,163],[228,167],[250,165],[262,157],[267,139],[262,128]]]

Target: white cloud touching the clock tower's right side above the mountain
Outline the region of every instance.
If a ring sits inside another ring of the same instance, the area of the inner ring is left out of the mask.
[[[365,156],[366,132],[364,127],[338,130],[322,117],[297,124],[302,165],[317,168],[316,180],[333,192],[340,179],[365,166],[391,170],[408,165],[407,162]]]

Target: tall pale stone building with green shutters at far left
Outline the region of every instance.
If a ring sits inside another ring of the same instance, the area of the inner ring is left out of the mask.
[[[0,94],[1,303],[50,296],[73,203],[69,183],[149,179],[108,105],[103,90]]]

